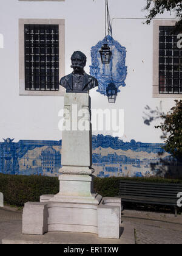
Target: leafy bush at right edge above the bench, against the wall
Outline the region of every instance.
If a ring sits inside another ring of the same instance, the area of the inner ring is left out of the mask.
[[[166,145],[165,151],[172,154],[179,161],[182,160],[182,100],[175,100],[175,107],[172,107],[167,115],[162,115],[164,122],[155,126],[163,131],[163,138]]]

